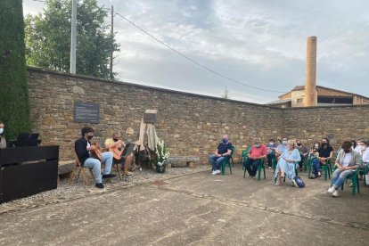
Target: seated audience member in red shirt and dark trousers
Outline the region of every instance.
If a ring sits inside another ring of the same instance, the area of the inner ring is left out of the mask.
[[[251,145],[250,152],[247,154],[249,158],[243,163],[250,179],[255,178],[258,166],[261,165],[261,160],[266,159],[266,154],[266,145],[260,144],[260,138],[255,138],[254,144]]]

